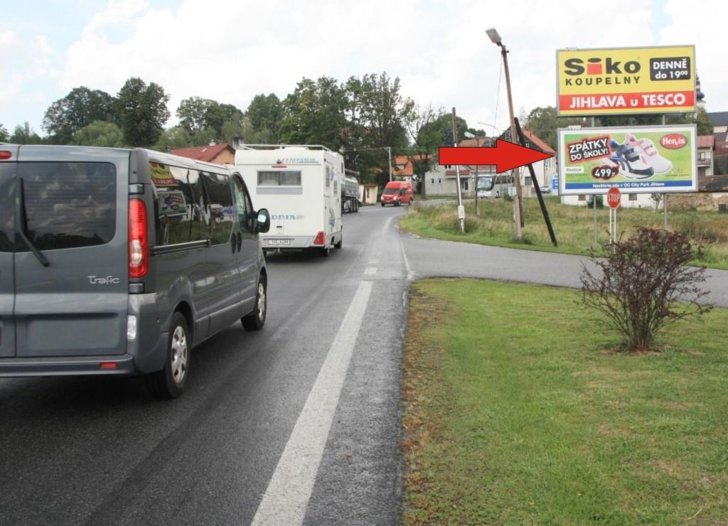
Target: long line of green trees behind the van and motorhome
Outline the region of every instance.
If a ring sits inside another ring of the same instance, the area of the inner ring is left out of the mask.
[[[400,79],[386,72],[338,81],[323,76],[301,79],[282,100],[273,93],[253,97],[248,108],[202,97],[183,99],[170,118],[170,95],[155,82],[132,77],[116,95],[75,87],[47,108],[39,136],[27,122],[11,133],[0,124],[0,141],[17,144],[145,147],[160,151],[212,142],[320,144],[341,151],[347,167],[363,181],[388,178],[387,151],[417,161],[417,172],[432,166],[419,154],[452,144],[451,121],[442,108],[420,108],[402,93]],[[459,130],[483,134],[458,120]],[[424,171],[423,171],[424,170]]]

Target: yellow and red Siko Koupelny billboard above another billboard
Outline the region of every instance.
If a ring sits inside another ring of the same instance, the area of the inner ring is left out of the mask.
[[[559,49],[559,116],[695,111],[695,46]]]

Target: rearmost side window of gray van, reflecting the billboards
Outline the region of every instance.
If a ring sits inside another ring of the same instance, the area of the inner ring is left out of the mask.
[[[149,172],[154,183],[157,247],[207,239],[197,172],[157,162],[149,163]]]

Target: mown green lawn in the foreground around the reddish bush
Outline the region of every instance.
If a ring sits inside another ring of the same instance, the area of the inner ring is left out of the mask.
[[[405,523],[728,523],[728,310],[614,351],[579,292],[413,285]]]

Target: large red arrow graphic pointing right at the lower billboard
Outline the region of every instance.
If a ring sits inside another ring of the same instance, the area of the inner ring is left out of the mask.
[[[500,173],[549,157],[553,155],[498,139],[495,148],[440,148],[439,164],[494,164]]]

